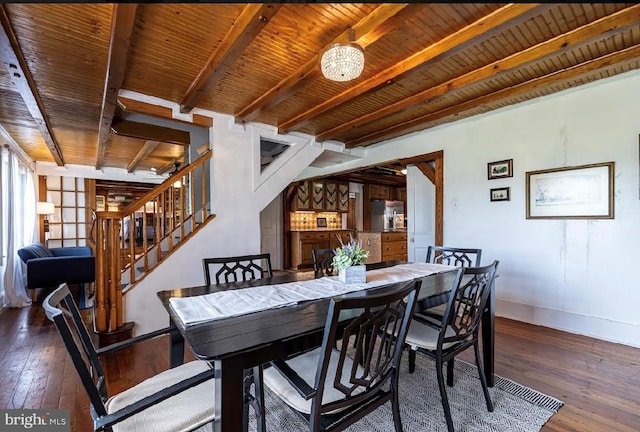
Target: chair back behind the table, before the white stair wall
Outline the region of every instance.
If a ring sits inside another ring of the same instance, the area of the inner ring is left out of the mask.
[[[219,265],[215,273],[215,283],[248,281],[273,276],[269,253],[222,258],[204,258],[204,281],[211,285],[211,266]]]

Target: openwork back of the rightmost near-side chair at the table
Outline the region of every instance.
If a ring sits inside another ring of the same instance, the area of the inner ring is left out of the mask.
[[[445,332],[441,332],[443,343],[477,336],[497,267],[498,261],[494,261],[488,266],[462,269],[462,277],[452,290],[443,317],[443,325],[453,329],[455,336],[445,336]]]

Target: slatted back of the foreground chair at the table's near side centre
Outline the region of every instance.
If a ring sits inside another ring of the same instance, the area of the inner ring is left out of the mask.
[[[366,401],[389,380],[394,381],[392,385],[397,384],[400,357],[420,284],[420,281],[402,282],[388,286],[380,294],[331,301],[315,378],[318,395],[312,402],[312,416],[314,411],[327,413]],[[356,317],[340,331],[341,320],[354,314]],[[337,365],[330,368],[335,350],[339,351]],[[345,362],[347,355],[353,362]],[[345,371],[348,364],[351,369]],[[345,398],[322,405],[327,385]]]

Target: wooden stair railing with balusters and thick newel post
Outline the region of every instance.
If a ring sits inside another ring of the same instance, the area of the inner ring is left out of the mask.
[[[122,295],[215,217],[211,151],[118,212],[97,212],[95,327],[120,328]]]

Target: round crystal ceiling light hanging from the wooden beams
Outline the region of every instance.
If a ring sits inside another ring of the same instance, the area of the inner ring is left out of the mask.
[[[351,81],[364,69],[364,53],[358,45],[335,44],[322,54],[322,75],[332,81]]]

